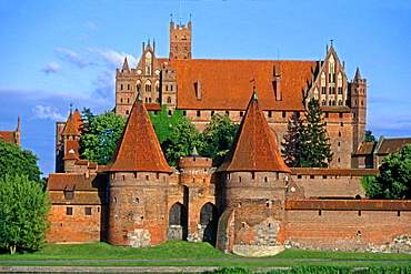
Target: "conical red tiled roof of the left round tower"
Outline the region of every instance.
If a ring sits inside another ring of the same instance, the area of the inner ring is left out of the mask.
[[[107,172],[172,173],[140,97],[136,100]]]

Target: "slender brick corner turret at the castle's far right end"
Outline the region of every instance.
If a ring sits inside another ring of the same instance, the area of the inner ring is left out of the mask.
[[[367,80],[361,78],[360,69],[357,68],[355,77],[350,83],[351,110],[353,125],[352,151],[355,152],[365,140],[367,125]]]

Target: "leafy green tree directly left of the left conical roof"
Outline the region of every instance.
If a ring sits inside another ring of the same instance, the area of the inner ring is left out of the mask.
[[[112,111],[93,115],[90,109],[84,109],[82,115],[84,124],[81,128],[80,158],[102,165],[108,164],[124,129],[127,118]]]

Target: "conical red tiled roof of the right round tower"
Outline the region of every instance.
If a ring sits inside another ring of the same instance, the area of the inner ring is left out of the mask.
[[[255,93],[231,149],[217,171],[291,172],[281,159],[275,136],[267,123]]]

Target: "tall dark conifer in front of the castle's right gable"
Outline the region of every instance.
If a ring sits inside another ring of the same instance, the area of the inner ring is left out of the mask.
[[[300,128],[299,168],[328,168],[332,160],[330,139],[327,136],[323,112],[319,102],[311,99],[308,103],[305,119]]]

